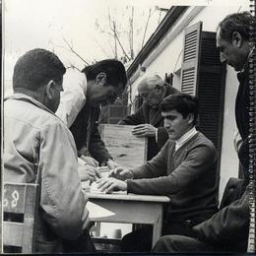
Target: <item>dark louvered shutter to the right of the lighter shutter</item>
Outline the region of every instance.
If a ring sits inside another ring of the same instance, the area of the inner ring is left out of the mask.
[[[216,32],[202,32],[199,65],[199,130],[221,152],[224,112],[225,66],[216,48]]]

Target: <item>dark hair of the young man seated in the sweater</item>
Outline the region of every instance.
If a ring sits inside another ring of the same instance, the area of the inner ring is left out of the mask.
[[[196,96],[181,93],[166,96],[160,103],[160,109],[162,112],[176,110],[182,114],[183,118],[186,118],[188,114],[192,113],[194,115],[193,124],[196,124],[198,107],[199,103]]]

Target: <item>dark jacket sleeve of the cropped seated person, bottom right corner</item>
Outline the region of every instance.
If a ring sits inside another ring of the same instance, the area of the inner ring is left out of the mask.
[[[249,230],[249,193],[193,227],[199,238],[224,251],[246,251]]]

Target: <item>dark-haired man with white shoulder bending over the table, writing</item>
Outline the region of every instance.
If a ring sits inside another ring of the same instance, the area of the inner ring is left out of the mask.
[[[127,83],[125,68],[118,60],[105,59],[87,66],[82,72],[72,69],[67,73],[56,114],[74,136],[82,181],[95,181],[100,177],[96,170],[98,163],[109,168],[118,165],[100,139],[98,115],[101,106],[121,96]]]

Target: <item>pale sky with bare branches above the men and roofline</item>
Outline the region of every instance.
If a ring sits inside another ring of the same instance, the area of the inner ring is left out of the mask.
[[[134,7],[134,50],[138,53],[150,9],[151,19],[144,44],[165,15],[157,7],[237,5],[244,1],[249,0],[4,0],[5,87],[11,88],[18,58],[32,48],[52,50],[66,67],[73,65],[80,70],[85,62],[71,52],[68,43],[88,63],[114,57],[113,37],[107,33],[110,32],[108,13],[116,22],[121,43],[128,51],[128,21]],[[119,48],[118,57],[121,55]]]

